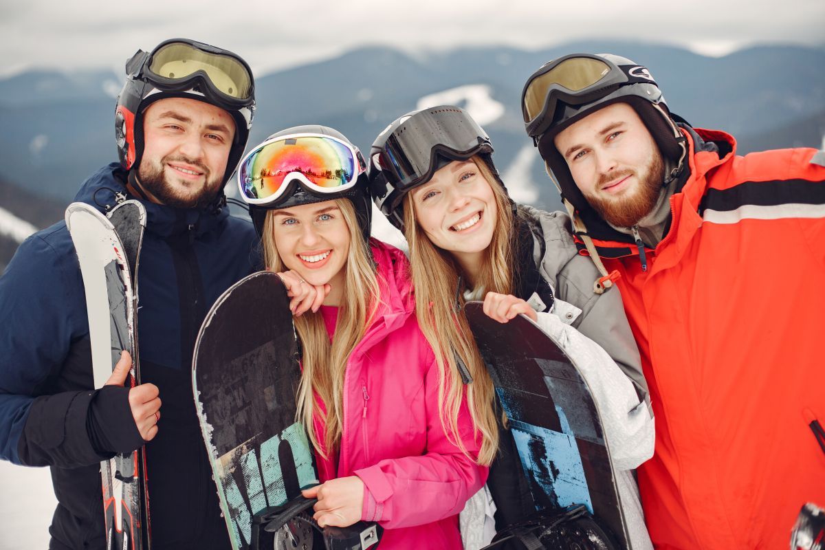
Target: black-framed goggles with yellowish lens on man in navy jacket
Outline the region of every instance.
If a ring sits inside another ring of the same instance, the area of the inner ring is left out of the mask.
[[[196,89],[227,110],[254,103],[247,63],[232,52],[195,40],[166,40],[151,54],[139,50],[126,63],[126,73],[167,92]]]

